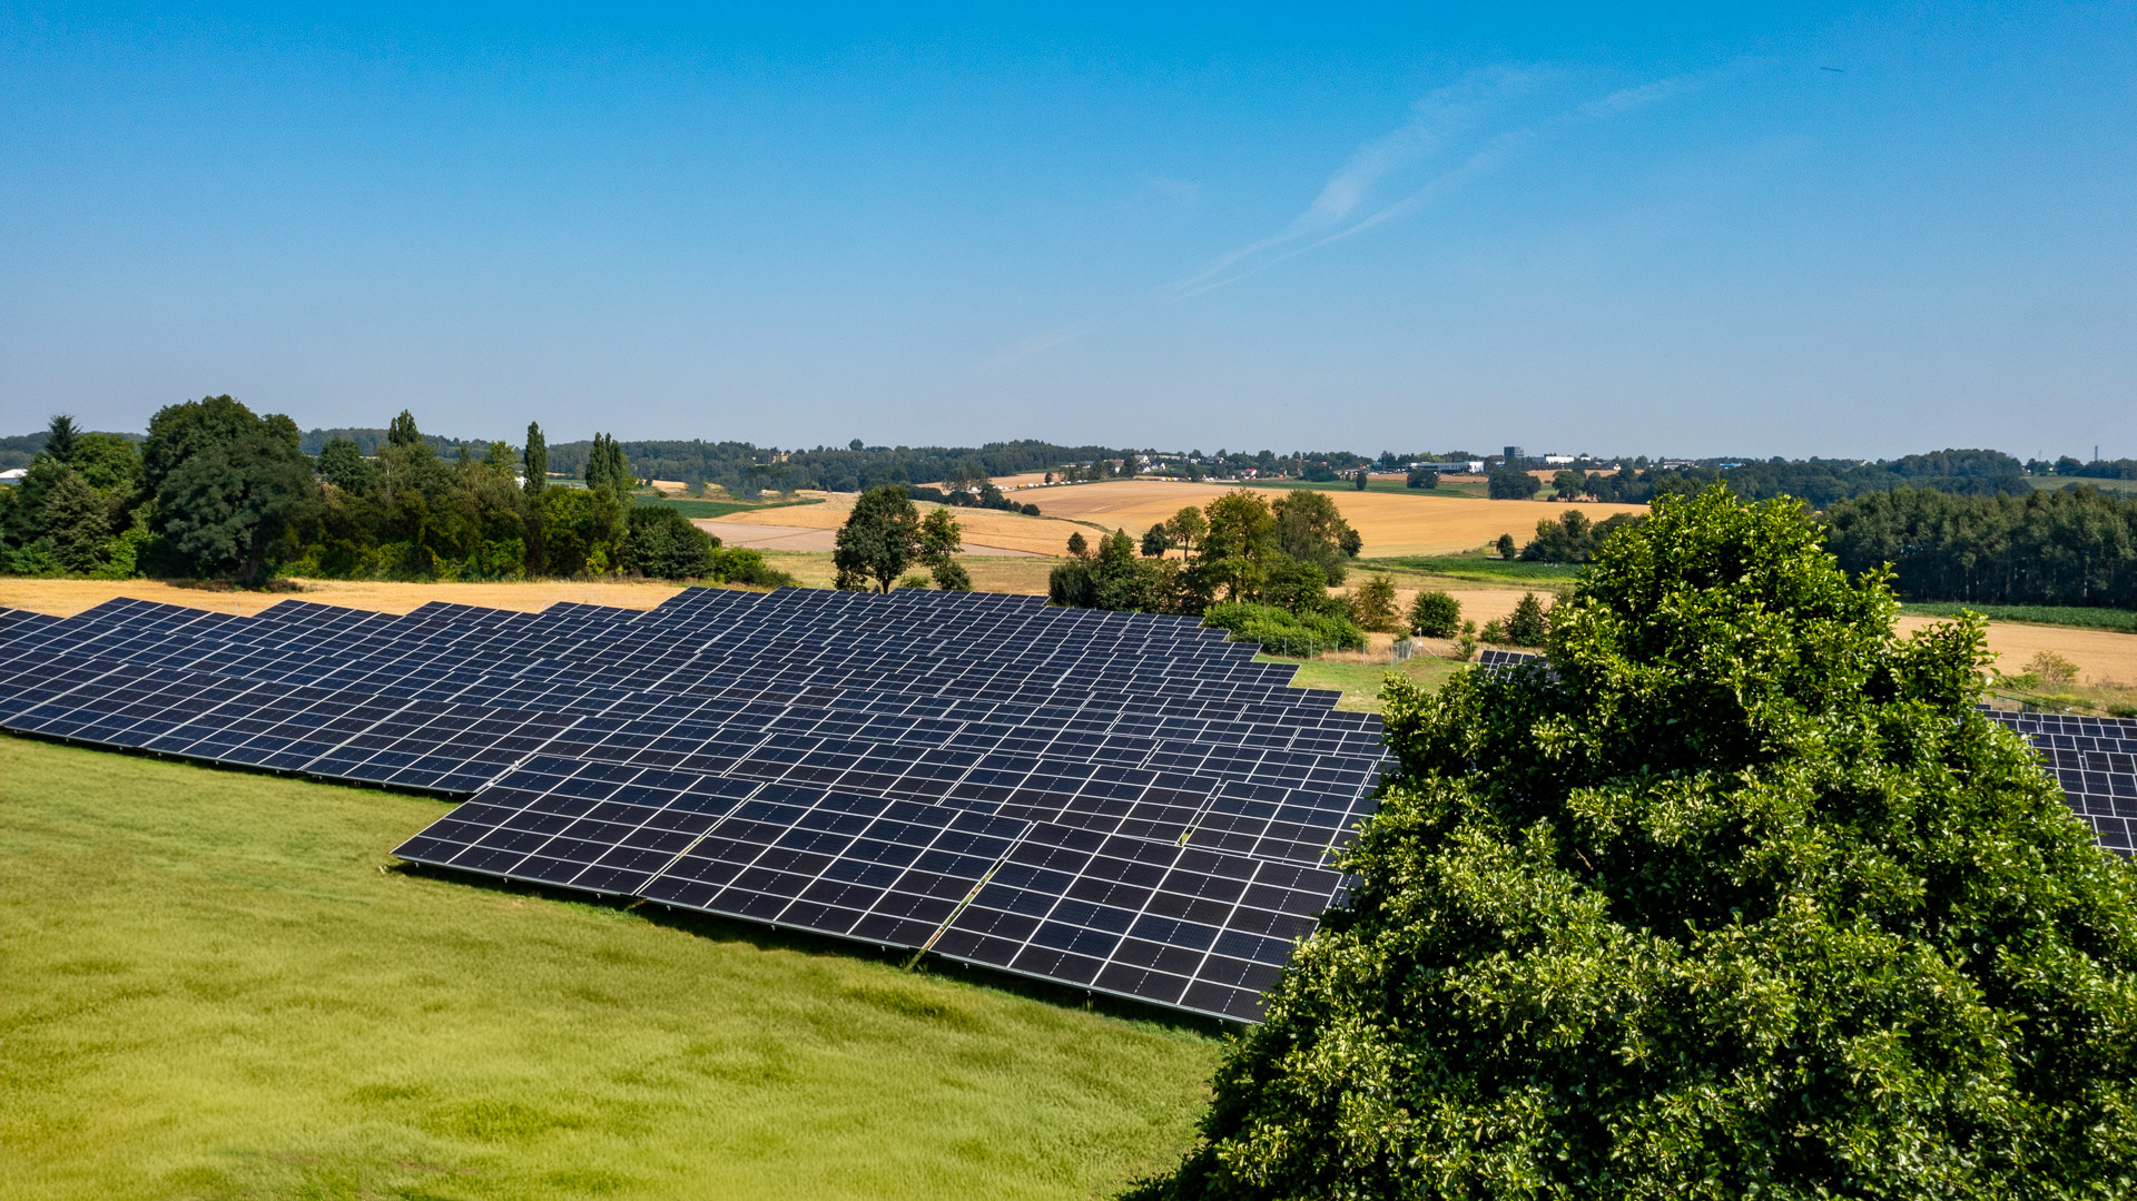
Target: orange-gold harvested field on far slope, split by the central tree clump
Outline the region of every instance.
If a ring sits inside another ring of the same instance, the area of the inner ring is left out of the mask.
[[[1017,494],[1019,500],[1034,500],[1047,517],[1071,521],[1094,521],[1105,528],[1124,528],[1141,534],[1150,526],[1165,521],[1186,504],[1210,504],[1231,492],[1218,483],[1165,483],[1150,479],[1118,479],[1105,483],[1077,483],[1068,487],[1043,487]],[[1272,489],[1254,489],[1265,500],[1276,500]],[[1385,556],[1438,556],[1449,551],[1470,551],[1500,534],[1513,534],[1526,543],[1537,534],[1537,521],[1556,521],[1566,509],[1579,509],[1592,521],[1616,513],[1645,513],[1645,504],[1554,504],[1547,500],[1479,500],[1475,496],[1432,496],[1419,492],[1404,496],[1395,492],[1325,492],[1344,521],[1366,539],[1366,553]]]

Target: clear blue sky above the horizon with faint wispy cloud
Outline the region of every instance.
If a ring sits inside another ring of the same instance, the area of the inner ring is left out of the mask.
[[[0,2],[0,432],[2137,455],[2128,2],[434,9]]]

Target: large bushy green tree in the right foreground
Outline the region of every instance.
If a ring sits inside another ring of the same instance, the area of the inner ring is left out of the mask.
[[[1893,613],[1716,489],[1547,669],[1389,682],[1357,885],[1139,1195],[2137,1195],[2137,870]]]

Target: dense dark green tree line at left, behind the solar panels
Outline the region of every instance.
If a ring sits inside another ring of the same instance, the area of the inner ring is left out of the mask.
[[[0,566],[17,575],[261,583],[645,575],[778,583],[682,513],[635,504],[622,447],[596,436],[583,487],[549,481],[547,447],[438,442],[402,412],[365,455],[348,436],[306,455],[284,415],[229,395],[171,404],[141,440],[56,417],[21,485],[0,489]]]

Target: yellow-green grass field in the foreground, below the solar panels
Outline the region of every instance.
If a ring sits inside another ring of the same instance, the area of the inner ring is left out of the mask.
[[[419,797],[0,737],[0,1197],[1090,1197],[1222,1043],[402,872]]]

